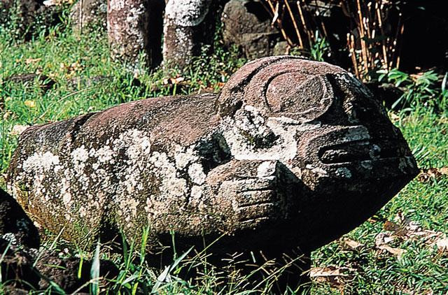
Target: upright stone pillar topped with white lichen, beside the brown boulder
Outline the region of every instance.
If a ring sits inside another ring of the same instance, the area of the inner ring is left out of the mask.
[[[211,0],[169,0],[165,8],[163,61],[184,68],[201,49]]]

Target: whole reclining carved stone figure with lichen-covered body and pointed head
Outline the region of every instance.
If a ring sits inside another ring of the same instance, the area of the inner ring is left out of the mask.
[[[151,227],[151,245],[311,251],[353,229],[417,173],[370,91],[330,64],[267,57],[221,94],[125,103],[30,127],[8,188],[76,240]]]

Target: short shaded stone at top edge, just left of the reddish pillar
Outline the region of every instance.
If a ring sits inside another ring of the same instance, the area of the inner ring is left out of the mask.
[[[92,27],[107,27],[107,0],[78,0],[71,8],[73,30],[82,32]]]

